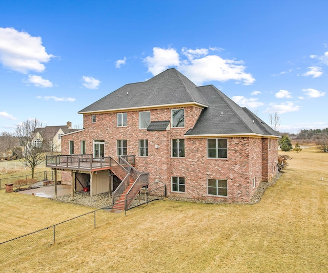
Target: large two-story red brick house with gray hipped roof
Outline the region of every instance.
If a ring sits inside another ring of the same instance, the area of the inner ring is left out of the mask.
[[[61,137],[62,154],[79,158],[78,167],[64,157],[47,164],[70,170],[61,182],[73,182],[76,191],[93,181],[91,196],[115,190],[113,176],[124,179],[113,163],[124,165],[119,156],[134,156],[135,170],[149,173],[149,190],[165,184],[167,196],[179,200],[248,202],[277,173],[279,134],[213,85],[197,87],[176,69],[125,85],[78,113],[84,129]],[[104,163],[86,171],[79,154]]]

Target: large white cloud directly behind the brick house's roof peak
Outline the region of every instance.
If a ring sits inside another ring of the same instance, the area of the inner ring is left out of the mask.
[[[182,49],[182,54],[172,48],[153,48],[153,56],[144,60],[148,71],[154,76],[168,69],[177,67],[181,73],[190,78],[196,85],[207,81],[236,80],[244,85],[251,85],[255,79],[252,74],[245,73],[242,60],[223,59],[218,55],[208,55],[208,49]],[[183,55],[187,58],[183,59]]]

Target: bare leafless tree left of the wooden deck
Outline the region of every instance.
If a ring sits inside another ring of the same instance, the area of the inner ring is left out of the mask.
[[[15,135],[18,137],[20,145],[23,146],[23,162],[31,169],[32,178],[34,178],[35,167],[42,164],[46,158],[43,132],[42,130],[37,130],[42,127],[42,122],[35,118],[18,124],[15,129]]]

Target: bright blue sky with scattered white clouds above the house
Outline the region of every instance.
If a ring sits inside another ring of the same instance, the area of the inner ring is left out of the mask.
[[[175,67],[280,132],[328,127],[328,1],[0,2],[0,132]]]

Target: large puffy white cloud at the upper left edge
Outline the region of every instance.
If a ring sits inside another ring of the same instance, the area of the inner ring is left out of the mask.
[[[0,28],[0,62],[4,67],[20,73],[43,72],[54,55],[48,54],[42,46],[41,37],[14,28]]]

